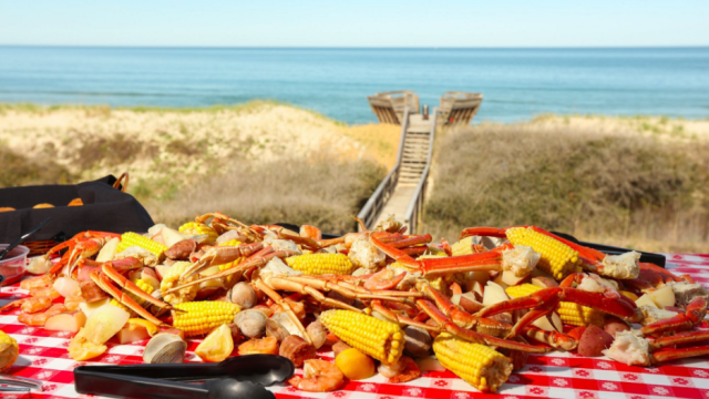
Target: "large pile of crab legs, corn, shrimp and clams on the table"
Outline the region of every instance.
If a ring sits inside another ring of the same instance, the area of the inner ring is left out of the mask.
[[[393,217],[323,239],[222,213],[147,234],[85,232],[30,262],[39,276],[19,321],[76,332],[75,360],[147,340],[147,364],[195,354],[289,358],[289,383],[332,391],[377,372],[405,382],[438,361],[495,392],[528,354],[607,356],[627,365],[709,354],[709,293],[640,254],[606,255],[535,226],[472,227],[450,245],[407,235]],[[335,361],[316,350],[329,346]],[[8,348],[12,348],[11,342]],[[17,356],[6,357],[13,361]],[[0,356],[0,359],[3,357]],[[0,365],[0,369],[4,365]]]

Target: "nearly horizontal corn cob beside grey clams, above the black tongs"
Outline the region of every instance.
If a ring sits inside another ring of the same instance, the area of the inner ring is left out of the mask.
[[[242,308],[223,300],[188,301],[175,305],[185,311],[173,311],[173,326],[185,331],[188,337],[205,335],[213,329],[234,323],[234,317]]]

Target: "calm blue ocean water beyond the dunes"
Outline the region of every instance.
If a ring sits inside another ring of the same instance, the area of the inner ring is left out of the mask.
[[[206,106],[274,99],[348,123],[367,95],[438,105],[480,92],[475,121],[541,113],[709,117],[709,48],[196,49],[0,47],[0,102]]]

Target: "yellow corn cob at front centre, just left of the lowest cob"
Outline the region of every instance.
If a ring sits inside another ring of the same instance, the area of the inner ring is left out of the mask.
[[[327,310],[320,321],[349,346],[384,364],[399,361],[405,340],[399,325],[352,310]]]

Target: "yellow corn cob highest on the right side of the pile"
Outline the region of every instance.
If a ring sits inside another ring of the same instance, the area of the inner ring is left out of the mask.
[[[513,245],[526,245],[542,254],[537,266],[557,280],[564,279],[580,265],[578,252],[568,245],[547,235],[535,232],[532,227],[511,227],[506,232]]]

